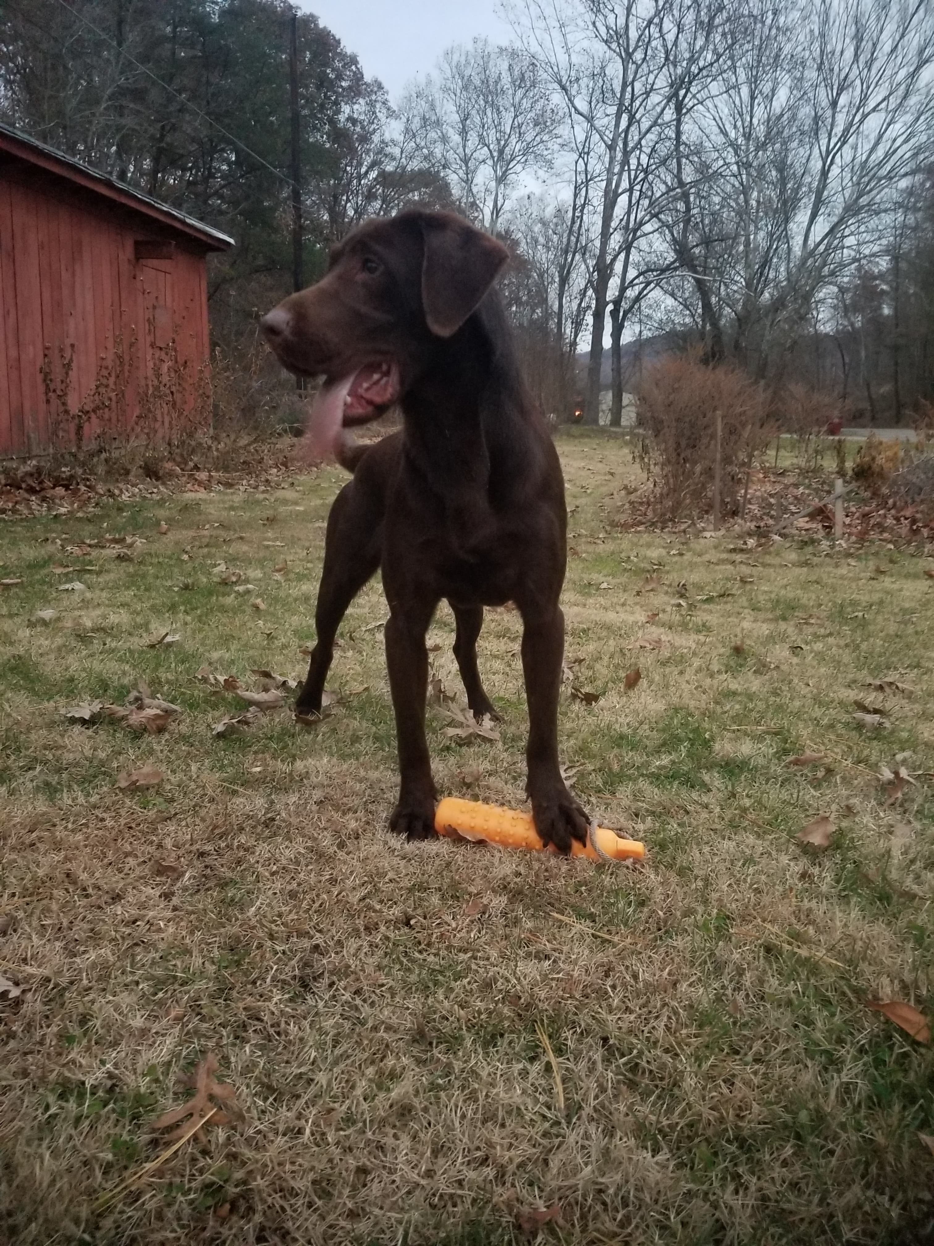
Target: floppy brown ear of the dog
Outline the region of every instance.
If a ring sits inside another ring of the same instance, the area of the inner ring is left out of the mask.
[[[422,237],[425,319],[433,334],[450,338],[493,284],[509,252],[451,212],[426,213]]]

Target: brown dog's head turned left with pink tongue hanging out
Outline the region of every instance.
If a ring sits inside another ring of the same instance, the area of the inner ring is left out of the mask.
[[[412,208],[359,226],[320,282],[263,316],[279,361],[324,381],[309,416],[311,457],[331,457],[341,427],[375,420],[405,395],[432,341],[457,333],[507,259],[502,243],[461,217]]]

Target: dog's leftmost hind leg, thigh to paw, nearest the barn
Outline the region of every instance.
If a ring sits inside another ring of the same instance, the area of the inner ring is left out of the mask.
[[[356,594],[380,566],[382,515],[374,513],[374,500],[350,481],[337,493],[328,516],[324,542],[324,569],[318,587],[315,630],[308,678],[295,701],[295,713],[313,716],[321,713],[324,682],[334,657],[334,638],[340,621]]]

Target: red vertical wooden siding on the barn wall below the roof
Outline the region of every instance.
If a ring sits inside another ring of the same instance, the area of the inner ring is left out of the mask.
[[[134,243],[147,239],[156,252],[162,243],[171,258],[137,260]],[[113,366],[118,339],[125,353],[134,343],[126,386],[128,436],[159,346],[174,338],[194,380],[208,365],[208,249],[219,248],[181,231],[173,237],[164,221],[36,173],[25,162],[0,164],[0,455],[41,452],[54,440],[44,358],[59,378],[61,360],[72,355],[73,410],[92,392],[101,369]],[[85,437],[95,431],[91,422]]]

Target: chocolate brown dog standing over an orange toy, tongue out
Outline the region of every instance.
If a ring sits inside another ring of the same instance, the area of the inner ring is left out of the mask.
[[[425,739],[425,637],[441,598],[457,624],[455,657],[477,718],[496,715],[476,643],[484,606],[522,614],[528,699],[527,792],[547,844],[587,840],[588,816],[558,764],[564,617],[564,481],[493,289],[502,243],[447,212],[370,221],[334,248],[326,275],[262,320],[279,360],[324,379],[305,446],[354,472],[328,520],[318,643],[296,711],[315,714],[347,606],[377,571],[389,602],[386,665],[399,745],[394,830],[435,835]],[[365,447],[347,429],[391,405],[401,432]]]

